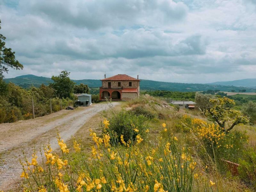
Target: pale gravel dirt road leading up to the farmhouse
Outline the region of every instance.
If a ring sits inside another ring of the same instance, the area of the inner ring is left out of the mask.
[[[118,104],[114,102],[113,106]],[[80,107],[73,111],[62,110],[36,119],[0,124],[0,189],[9,190],[13,179],[19,178],[22,151],[30,157],[33,148],[38,150],[48,141],[53,150],[58,148],[57,130],[62,139],[67,141],[92,116],[104,109],[108,109],[106,103],[93,104],[90,107]]]

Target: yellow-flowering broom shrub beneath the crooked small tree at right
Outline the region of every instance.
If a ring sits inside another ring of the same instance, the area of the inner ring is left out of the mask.
[[[238,163],[238,159],[243,156],[243,149],[248,137],[238,131],[225,133],[219,125],[207,124],[202,119],[191,118],[184,115],[182,122],[185,130],[190,130],[196,137],[203,141],[206,152],[219,164],[220,171],[223,171],[221,159]],[[200,149],[201,150],[201,149]],[[199,151],[202,157],[204,150]]]

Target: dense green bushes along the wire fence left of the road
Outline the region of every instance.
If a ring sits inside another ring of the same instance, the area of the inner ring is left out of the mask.
[[[42,84],[39,88],[31,87],[28,90],[9,83],[0,100],[0,123],[12,123],[18,120],[33,117],[32,98],[34,101],[35,117],[51,113],[50,99],[52,98],[52,112],[68,106],[72,100],[54,98],[55,90]]]

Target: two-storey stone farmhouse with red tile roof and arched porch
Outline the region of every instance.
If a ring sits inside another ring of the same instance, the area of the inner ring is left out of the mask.
[[[140,96],[140,79],[139,76],[133,78],[125,74],[119,74],[112,77],[101,79],[100,100],[112,99],[130,100]]]

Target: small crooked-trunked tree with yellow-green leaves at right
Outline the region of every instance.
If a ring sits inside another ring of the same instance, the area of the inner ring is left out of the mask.
[[[210,99],[211,105],[207,108],[206,116],[210,121],[216,122],[220,125],[223,132],[229,132],[237,124],[247,124],[250,118],[240,111],[232,109],[236,105],[235,101],[227,97],[217,97]],[[228,129],[225,125],[231,119],[229,115],[234,116],[233,122]]]

